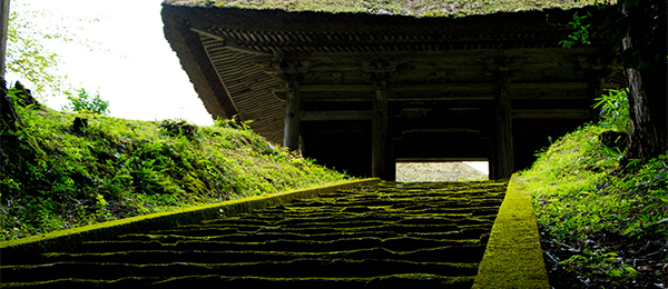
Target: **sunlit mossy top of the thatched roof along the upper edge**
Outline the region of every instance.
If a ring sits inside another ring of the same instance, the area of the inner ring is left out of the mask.
[[[547,8],[569,9],[593,4],[593,0],[166,0],[168,3],[246,9],[282,9],[286,11],[362,12],[418,17],[462,17],[493,12],[514,12]]]

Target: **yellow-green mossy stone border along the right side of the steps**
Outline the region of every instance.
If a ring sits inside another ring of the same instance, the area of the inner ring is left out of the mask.
[[[530,195],[510,181],[473,288],[550,288]]]

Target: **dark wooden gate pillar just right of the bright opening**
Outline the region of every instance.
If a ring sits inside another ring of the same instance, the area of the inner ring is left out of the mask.
[[[497,106],[494,109],[495,136],[492,144],[492,170],[490,179],[507,179],[514,171],[514,156],[512,144],[512,108],[508,72],[501,71],[499,78],[499,93],[497,96]]]

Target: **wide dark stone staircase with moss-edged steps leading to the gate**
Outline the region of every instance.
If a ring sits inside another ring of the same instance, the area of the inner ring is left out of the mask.
[[[2,260],[2,288],[471,288],[507,182],[383,182]],[[252,287],[248,287],[252,288]]]

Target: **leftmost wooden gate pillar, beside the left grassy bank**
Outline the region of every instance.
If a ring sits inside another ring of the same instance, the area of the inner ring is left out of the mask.
[[[289,81],[287,98],[285,99],[285,130],[283,133],[283,147],[289,150],[299,149],[299,83],[292,78]]]

